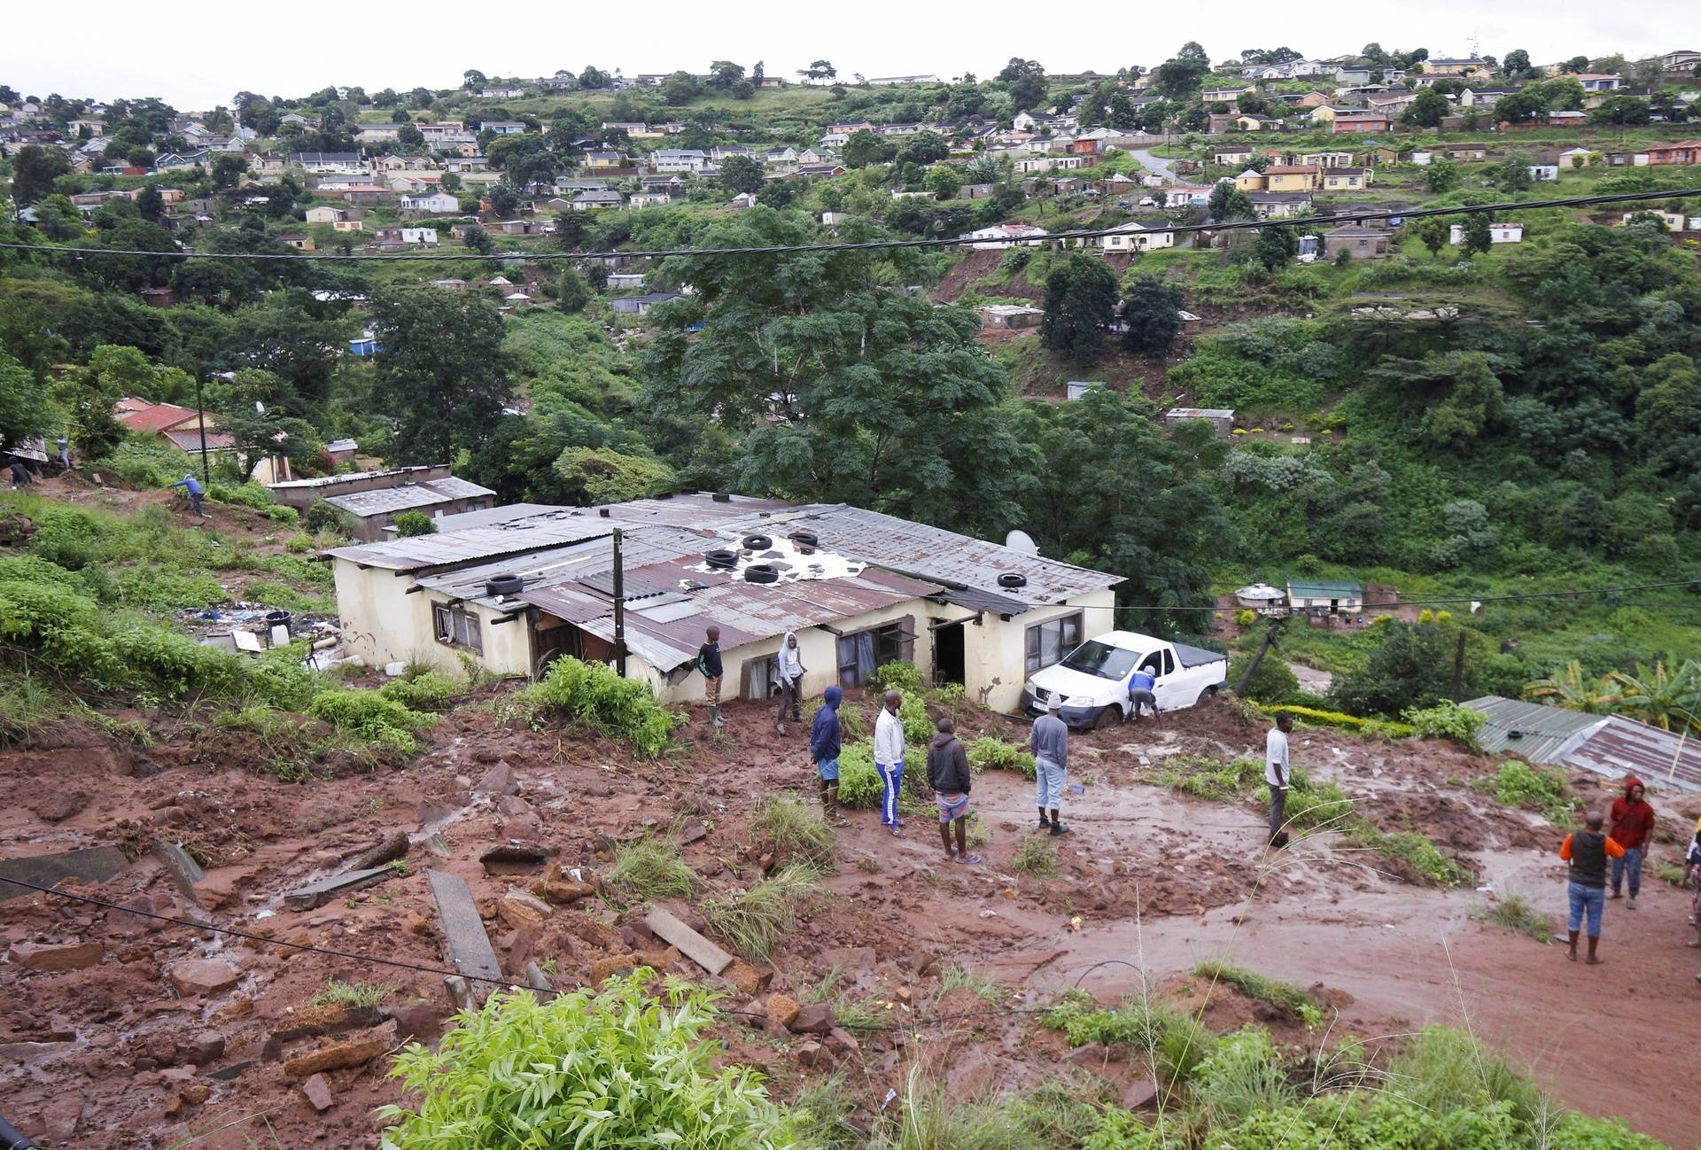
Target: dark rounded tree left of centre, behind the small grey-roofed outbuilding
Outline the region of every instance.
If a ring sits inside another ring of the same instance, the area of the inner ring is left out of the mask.
[[[371,323],[373,398],[396,420],[396,463],[442,463],[490,434],[510,395],[493,305],[401,288],[373,294]]]

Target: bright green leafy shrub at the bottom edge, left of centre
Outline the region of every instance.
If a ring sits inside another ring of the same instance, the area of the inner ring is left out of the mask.
[[[463,1011],[437,1050],[413,1043],[395,1077],[417,1109],[379,1107],[396,1123],[383,1150],[677,1145],[782,1150],[794,1138],[757,1075],[714,1067],[711,995],[650,970],[539,1002],[495,993]]]

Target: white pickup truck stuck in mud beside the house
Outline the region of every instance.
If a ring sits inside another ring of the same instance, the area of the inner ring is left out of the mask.
[[[1043,701],[1055,699],[1058,718],[1070,726],[1121,723],[1133,709],[1128,680],[1138,669],[1153,675],[1158,711],[1192,706],[1228,686],[1226,655],[1138,631],[1109,631],[1034,672],[1022,686],[1022,711],[1038,714]]]

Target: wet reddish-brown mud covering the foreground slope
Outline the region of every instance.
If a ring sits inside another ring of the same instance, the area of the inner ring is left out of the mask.
[[[653,827],[701,825],[708,834],[686,847],[686,859],[704,878],[708,897],[748,885],[757,869],[757,852],[747,845],[750,808],[776,791],[813,794],[803,735],[776,735],[765,714],[733,704],[730,733],[716,738],[694,713],[682,754],[640,764],[623,747],[577,732],[505,730],[488,713],[459,711],[439,723],[427,750],[405,769],[306,786],[245,769],[253,747],[223,737],[208,742],[199,728],[174,726],[160,714],[138,716],[160,732],[162,742],[151,747],[60,728],[31,747],[0,752],[0,788],[15,796],[0,808],[0,857],[122,845],[138,856],[122,874],[102,886],[66,888],[441,968],[447,956],[425,871],[459,874],[492,910],[503,891],[534,878],[483,873],[478,856],[509,839],[543,842],[560,851],[561,866],[595,869],[611,840]],[[964,725],[1007,735],[1021,730],[995,716]],[[1084,783],[1085,793],[1065,800],[1073,834],[1055,840],[1060,873],[1053,878],[1010,869],[1033,818],[1031,789],[1019,776],[987,774],[975,788],[988,835],[981,868],[946,862],[929,818],[917,817],[908,837],[893,839],[873,813],[854,811],[840,832],[840,869],[828,880],[837,897],[782,942],[771,966],[752,963],[755,976],[801,997],[839,968],[839,990],[871,999],[895,1022],[987,1009],[970,990],[939,993],[947,966],[992,978],[1022,1007],[1077,982],[1104,1000],[1152,985],[1201,1007],[1213,1029],[1259,1021],[1286,1041],[1317,1041],[1291,1019],[1266,1017],[1262,1004],[1238,992],[1218,987],[1206,995],[1201,983],[1179,978],[1203,958],[1226,958],[1318,985],[1340,1012],[1337,1034],[1468,1022],[1531,1060],[1565,1102],[1621,1114],[1674,1147],[1692,1147],[1692,1073],[1681,1051],[1701,1048],[1694,1009],[1701,987],[1692,976],[1701,961],[1682,946],[1687,893],[1650,874],[1640,910],[1609,903],[1607,965],[1587,968],[1567,963],[1562,948],[1471,920],[1483,895],[1400,883],[1374,857],[1340,849],[1328,834],[1266,856],[1259,810],[1204,803],[1143,781],[1165,755],[1249,754],[1260,738],[1260,730],[1237,725],[1225,704],[1078,737],[1072,781]],[[481,777],[503,762],[517,774],[521,801],[475,794]],[[1563,876],[1553,857],[1560,832],[1470,791],[1468,781],[1487,760],[1439,743],[1306,732],[1294,740],[1294,762],[1339,779],[1385,825],[1427,834],[1497,890],[1517,886],[1550,914],[1563,912]],[[1587,786],[1592,793],[1594,784]],[[1670,796],[1655,801],[1670,813]],[[1677,806],[1689,810],[1694,801]],[[388,830],[413,837],[407,876],[316,910],[282,908],[281,895],[335,871]],[[449,859],[427,851],[430,832],[442,834]],[[208,868],[197,888],[204,910],[148,854],[156,840],[185,845]],[[1675,852],[1675,845],[1657,851]],[[272,914],[260,917],[265,910]],[[689,915],[689,908],[679,912]],[[617,965],[629,953],[672,959],[594,898],[556,910],[541,929],[514,931],[500,919],[486,925],[507,975],[517,978],[526,963],[551,959],[558,987],[577,985],[592,966]],[[3,1113],[27,1131],[58,1135],[63,1145],[165,1147],[238,1123],[196,1145],[267,1141],[269,1124],[284,1145],[373,1147],[371,1109],[400,1101],[381,1058],[328,1072],[332,1106],[323,1114],[284,1073],[286,1060],[350,1036],[291,1036],[303,1029],[308,1000],[328,976],[386,983],[390,1007],[413,1007],[401,1011],[400,1024],[425,1028],[427,1038],[451,1011],[442,980],[429,973],[289,953],[46,895],[0,903],[0,953],[14,942],[80,941],[104,942],[104,959],[58,973],[0,965]],[[180,997],[167,970],[187,958],[230,963],[236,985],[204,999]],[[1099,965],[1106,959],[1114,963]],[[703,980],[689,963],[679,970]],[[733,992],[730,1005],[742,1009],[748,999]],[[376,1034],[395,1046],[407,1029],[398,1034],[386,1022]],[[782,1097],[828,1068],[799,1067],[801,1039],[784,1031],[774,1038],[728,1019],[723,1034],[725,1056],[767,1070]],[[912,1060],[937,1065],[944,1050],[954,1051],[949,1062],[959,1090],[1027,1085],[1065,1056],[1060,1039],[1031,1016],[1009,1016],[873,1034],[837,1062],[849,1072],[849,1089],[874,1104],[888,1089],[903,1089]],[[252,1065],[233,1079],[214,1077],[245,1063]],[[1126,1067],[1104,1072],[1119,1085],[1138,1079]]]

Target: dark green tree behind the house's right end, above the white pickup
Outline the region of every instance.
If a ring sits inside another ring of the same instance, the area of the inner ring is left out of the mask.
[[[1209,425],[1170,434],[1150,400],[1094,388],[1073,403],[1024,403],[1017,427],[1024,458],[1041,461],[1029,471],[1022,526],[1044,555],[1124,575],[1124,604],[1215,602],[1213,572],[1235,536],[1213,487],[1228,444]],[[1141,612],[1128,626],[1162,631],[1169,623],[1162,612]],[[1111,619],[1087,626],[1109,629]]]

